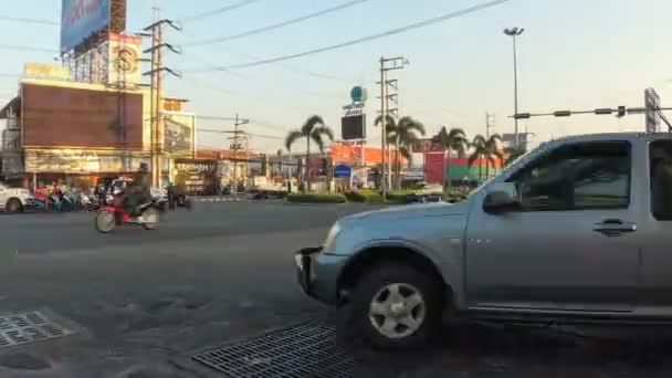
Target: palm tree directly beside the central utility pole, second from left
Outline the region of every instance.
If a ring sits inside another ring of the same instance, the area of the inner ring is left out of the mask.
[[[380,124],[380,116],[376,122]],[[401,157],[405,157],[410,166],[412,162],[411,145],[418,140],[416,133],[424,135],[424,125],[412,117],[406,116],[397,123],[393,122],[393,118],[388,119],[387,126],[387,140],[395,144],[395,183],[397,189],[401,189]]]

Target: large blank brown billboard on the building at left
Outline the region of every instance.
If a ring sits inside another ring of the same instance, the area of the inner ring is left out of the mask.
[[[143,95],[23,84],[23,146],[143,148]]]

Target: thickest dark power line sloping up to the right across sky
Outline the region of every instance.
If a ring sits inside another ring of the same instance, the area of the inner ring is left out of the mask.
[[[317,54],[317,53],[322,53],[325,51],[329,51],[329,50],[336,50],[336,49],[343,49],[346,46],[350,46],[354,44],[359,44],[363,42],[368,42],[368,41],[372,41],[372,40],[377,40],[377,39],[381,39],[385,36],[390,36],[390,35],[395,35],[395,34],[399,34],[399,33],[403,33],[413,29],[418,29],[418,28],[423,28],[423,27],[428,27],[434,23],[439,23],[439,22],[443,22],[450,19],[454,19],[461,15],[465,15],[469,13],[473,13],[486,8],[491,8],[494,6],[498,6],[501,3],[507,2],[510,0],[495,0],[495,1],[490,1],[480,6],[475,6],[475,7],[471,7],[471,8],[466,8],[456,12],[452,12],[452,13],[448,13],[448,14],[442,14],[429,20],[424,20],[421,22],[417,22],[417,23],[412,23],[402,28],[398,28],[398,29],[392,29],[392,30],[388,30],[386,32],[382,33],[377,33],[377,34],[371,34],[371,35],[367,35],[367,36],[363,36],[353,41],[347,41],[347,42],[343,42],[343,43],[338,43],[338,44],[333,44],[329,46],[325,46],[325,48],[319,48],[319,49],[315,49],[315,50],[309,50],[309,51],[304,51],[301,53],[296,53],[296,54],[290,54],[290,55],[283,55],[283,56],[277,56],[277,57],[272,57],[272,59],[266,59],[266,60],[260,60],[260,61],[255,61],[255,62],[248,62],[248,63],[241,63],[241,64],[231,64],[231,65],[225,65],[225,66],[220,66],[220,67],[213,67],[213,70],[217,71],[222,71],[222,70],[238,70],[238,69],[248,69],[248,67],[253,67],[253,66],[258,66],[258,65],[264,65],[264,64],[271,64],[271,63],[277,63],[277,62],[282,62],[282,61],[288,61],[292,59],[296,59],[296,57],[302,57],[302,56],[306,56],[306,55],[313,55],[313,54]]]

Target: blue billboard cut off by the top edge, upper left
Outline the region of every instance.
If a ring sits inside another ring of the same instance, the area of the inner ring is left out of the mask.
[[[91,34],[109,24],[111,0],[63,0],[61,52],[72,50]]]

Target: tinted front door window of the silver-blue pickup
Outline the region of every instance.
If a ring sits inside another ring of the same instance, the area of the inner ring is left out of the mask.
[[[620,209],[630,204],[630,145],[561,146],[515,174],[525,211]]]

